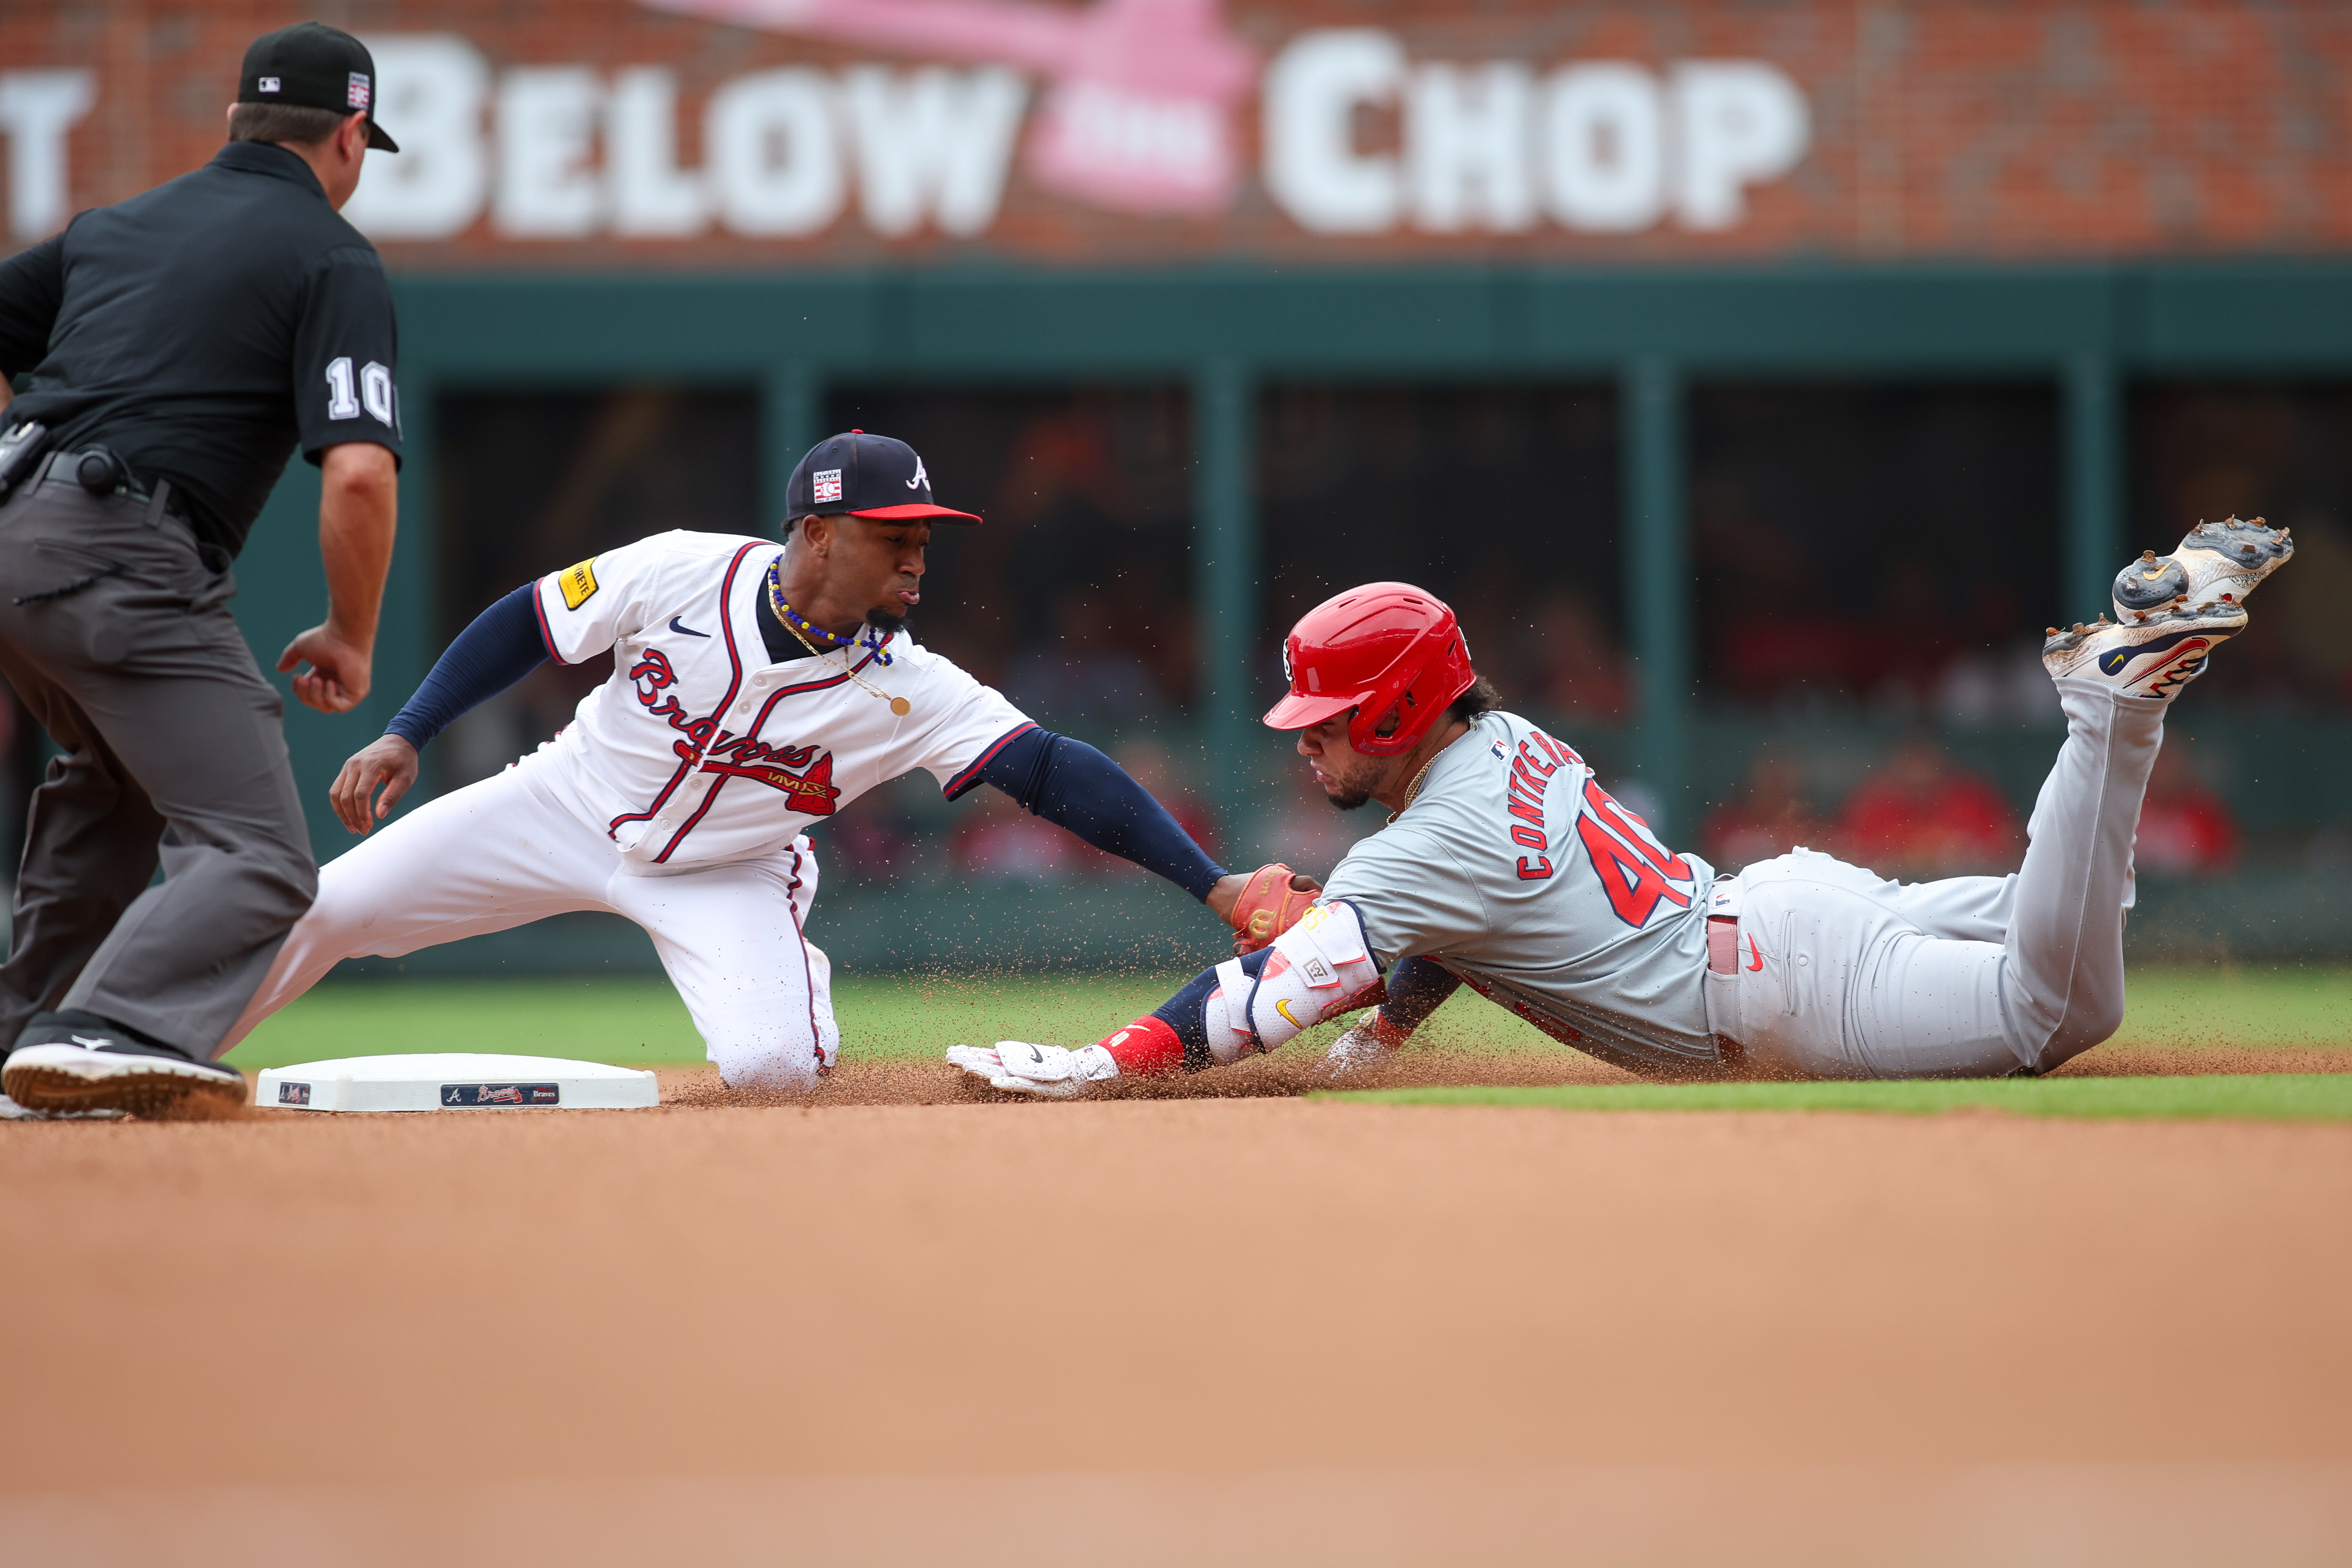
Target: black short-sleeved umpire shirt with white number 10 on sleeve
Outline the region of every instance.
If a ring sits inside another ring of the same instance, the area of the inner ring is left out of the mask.
[[[400,458],[395,364],[376,247],[310,165],[263,141],[0,261],[0,376],[33,367],[0,418],[169,480],[228,555],[296,440],[313,463],[341,442]]]

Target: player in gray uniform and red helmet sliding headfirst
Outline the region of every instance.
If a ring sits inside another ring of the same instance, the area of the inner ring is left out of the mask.
[[[1470,985],[1653,1077],[2049,1072],[2124,1018],[2131,844],[2164,712],[2291,552],[2260,517],[2199,524],[2178,552],[2124,569],[2114,623],[2051,628],[2042,663],[2067,738],[2025,865],[1910,886],[1809,849],[1738,875],[1670,851],[1573,748],[1496,710],[1454,611],[1404,583],[1355,588],[1291,630],[1291,689],[1265,724],[1298,731],[1336,806],[1376,799],[1390,825],[1312,903],[1289,877],[1254,882],[1237,922],[1263,917],[1272,945],[1098,1044],[955,1046],[948,1060],[1068,1098],[1270,1051],[1378,1001],[1324,1056],[1338,1079]]]

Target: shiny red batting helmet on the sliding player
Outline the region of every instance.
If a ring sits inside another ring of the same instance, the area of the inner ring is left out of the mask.
[[[1364,583],[1324,599],[1282,642],[1291,693],[1265,710],[1268,729],[1305,729],[1355,708],[1348,745],[1397,757],[1444,715],[1477,675],[1454,611],[1411,583]],[[1378,733],[1388,715],[1397,729]]]

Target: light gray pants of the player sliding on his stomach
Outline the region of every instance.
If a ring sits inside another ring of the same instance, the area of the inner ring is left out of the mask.
[[[1804,1079],[2049,1072],[2124,1023],[2124,907],[2166,701],[2060,679],[2067,736],[2009,877],[1886,882],[1799,849],[1738,875],[1708,1027]]]

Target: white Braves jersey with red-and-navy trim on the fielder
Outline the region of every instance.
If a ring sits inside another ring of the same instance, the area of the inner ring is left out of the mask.
[[[764,576],[781,552],[771,538],[673,531],[539,581],[548,649],[562,663],[609,649],[614,668],[527,766],[630,860],[757,856],[915,769],[960,795],[1033,729],[903,632],[767,663]],[[903,696],[908,715],[849,670]]]

